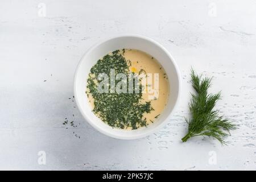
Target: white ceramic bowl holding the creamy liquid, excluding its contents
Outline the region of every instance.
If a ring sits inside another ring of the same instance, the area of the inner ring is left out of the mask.
[[[88,98],[85,94],[87,84],[86,80],[88,78],[90,68],[96,64],[100,57],[105,56],[109,52],[115,51],[116,49],[123,48],[139,49],[155,57],[155,59],[159,61],[166,71],[168,80],[170,82],[170,97],[168,98],[168,103],[163,113],[160,114],[154,123],[137,130],[113,129],[106,123],[102,122],[101,119],[93,114],[88,102]],[[98,43],[85,53],[77,66],[75,73],[74,96],[81,114],[95,129],[105,135],[118,139],[142,138],[156,132],[156,130],[158,130],[170,119],[171,113],[173,113],[177,105],[177,101],[179,100],[179,94],[180,74],[174,59],[159,43],[141,35],[122,35]]]

